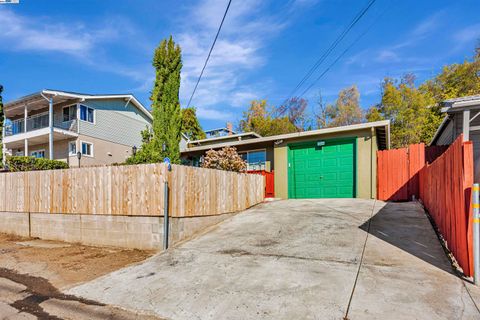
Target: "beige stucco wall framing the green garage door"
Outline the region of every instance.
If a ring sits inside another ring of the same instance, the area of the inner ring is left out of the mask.
[[[341,137],[357,137],[357,198],[371,199],[376,196],[376,151],[377,140],[370,129],[335,133],[285,141],[275,147],[275,196],[288,198],[288,145],[303,141],[327,140]]]

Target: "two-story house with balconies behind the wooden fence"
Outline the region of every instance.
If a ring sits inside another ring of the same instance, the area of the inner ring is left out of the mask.
[[[43,90],[7,102],[4,113],[4,159],[27,155],[71,167],[124,162],[152,123],[150,112],[131,94]]]

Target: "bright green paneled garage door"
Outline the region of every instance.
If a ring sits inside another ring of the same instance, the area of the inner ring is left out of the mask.
[[[289,197],[355,197],[355,142],[322,140],[290,146]]]

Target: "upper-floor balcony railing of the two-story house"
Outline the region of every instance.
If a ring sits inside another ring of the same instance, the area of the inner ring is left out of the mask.
[[[27,118],[27,130],[25,131],[25,120],[13,120],[5,126],[5,136],[13,136],[20,133],[31,132],[38,129],[48,128],[48,112],[36,114]],[[70,121],[53,121],[53,126],[56,128],[77,131],[77,120]]]

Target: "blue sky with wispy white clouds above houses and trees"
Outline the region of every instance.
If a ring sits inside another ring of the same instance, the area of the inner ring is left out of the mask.
[[[204,129],[236,123],[252,99],[277,105],[366,0],[233,0],[192,105]],[[188,102],[227,0],[20,0],[0,5],[0,83],[8,101],[40,89],[135,94],[150,107],[151,58],[170,34],[181,45]],[[385,76],[418,81],[473,55],[480,1],[377,0],[312,80],[369,30],[304,98],[334,102],[356,84],[362,107]],[[299,93],[310,85],[310,81]]]

